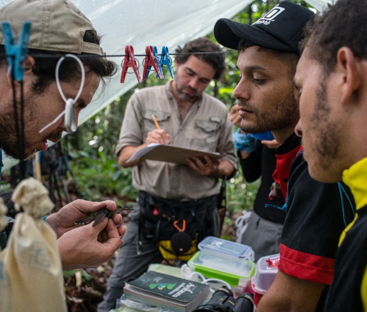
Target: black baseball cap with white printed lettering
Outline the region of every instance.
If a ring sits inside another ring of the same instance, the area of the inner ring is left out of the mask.
[[[237,50],[243,39],[259,47],[300,55],[298,43],[304,37],[306,23],[314,15],[299,4],[281,1],[252,25],[218,19],[214,25],[214,37],[230,49]]]

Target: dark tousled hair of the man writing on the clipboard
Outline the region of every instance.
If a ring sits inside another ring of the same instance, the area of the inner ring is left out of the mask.
[[[176,49],[176,53],[188,53],[188,54],[177,55],[175,59],[179,64],[183,64],[187,61],[187,59],[191,55],[194,55],[194,53],[197,52],[216,52],[216,53],[195,54],[195,56],[198,59],[202,60],[203,62],[210,64],[214,68],[215,70],[214,79],[221,78],[226,69],[226,65],[224,62],[225,52],[222,51],[219,45],[215,44],[213,41],[211,41],[206,37],[189,41],[184,45],[183,48],[178,47]]]

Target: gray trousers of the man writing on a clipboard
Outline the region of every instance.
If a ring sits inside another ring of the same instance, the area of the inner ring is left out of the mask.
[[[130,222],[127,224],[126,234],[123,237],[123,245],[119,249],[112,274],[108,279],[107,291],[103,295],[103,301],[98,304],[98,312],[109,312],[116,307],[116,300],[123,294],[125,281],[138,278],[148,270],[151,263],[161,263],[163,257],[159,252],[156,242],[139,237],[139,204],[134,205],[135,211],[129,214]],[[213,207],[212,235],[218,236],[219,218],[218,211]],[[137,254],[137,243],[141,240],[141,254]]]

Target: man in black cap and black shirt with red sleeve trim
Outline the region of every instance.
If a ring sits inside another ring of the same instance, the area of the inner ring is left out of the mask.
[[[281,235],[279,272],[258,304],[261,311],[323,311],[326,285],[333,279],[339,235],[353,219],[348,187],[316,182],[308,174],[301,140],[293,76],[298,43],[313,13],[282,1],[253,25],[219,19],[214,36],[238,49],[241,78],[233,91],[239,101],[241,129],[272,131],[276,150],[273,178],[282,188],[287,212]]]

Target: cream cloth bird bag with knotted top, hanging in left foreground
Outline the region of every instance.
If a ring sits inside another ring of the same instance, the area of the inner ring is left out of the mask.
[[[20,212],[2,251],[11,312],[66,312],[56,234],[41,218],[54,204],[39,181],[19,183],[11,197]],[[2,300],[2,299],[1,299]]]

